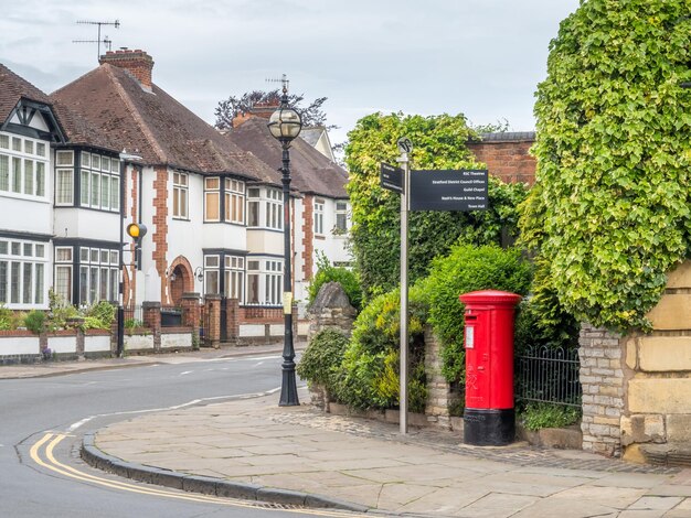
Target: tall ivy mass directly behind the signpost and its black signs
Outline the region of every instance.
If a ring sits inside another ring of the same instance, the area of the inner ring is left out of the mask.
[[[380,164],[395,164],[396,141],[408,137],[415,170],[481,168],[468,151],[476,133],[465,116],[433,117],[373,114],[360,119],[348,134],[346,163],[352,206],[351,244],[365,299],[398,284],[401,250],[400,195],[380,186]],[[502,230],[518,224],[517,204],[525,196],[520,184],[490,179],[485,212],[414,212],[410,216],[411,281],[424,277],[432,260],[464,238],[476,245],[499,244]]]

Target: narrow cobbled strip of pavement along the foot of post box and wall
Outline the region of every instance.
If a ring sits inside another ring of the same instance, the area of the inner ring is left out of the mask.
[[[306,416],[305,413],[309,413]],[[403,444],[422,445],[434,450],[472,456],[488,461],[507,462],[515,465],[535,467],[559,467],[566,470],[592,470],[610,473],[646,473],[656,475],[671,475],[681,470],[676,467],[629,464],[616,458],[565,458],[559,455],[559,450],[536,446],[501,446],[481,447],[461,444],[461,439],[453,432],[437,429],[412,429],[403,436],[393,425],[379,421],[340,416],[323,414],[318,410],[289,414],[266,416],[280,424],[296,424],[353,435],[381,439]]]

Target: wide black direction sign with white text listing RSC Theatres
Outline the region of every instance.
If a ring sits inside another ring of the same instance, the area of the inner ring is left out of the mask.
[[[487,170],[411,171],[411,211],[487,211]]]

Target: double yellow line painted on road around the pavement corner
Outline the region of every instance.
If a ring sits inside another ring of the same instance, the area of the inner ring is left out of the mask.
[[[73,478],[75,481],[85,482],[89,484],[96,484],[103,487],[109,487],[111,489],[119,489],[129,493],[138,493],[140,495],[149,495],[149,496],[158,496],[162,498],[172,498],[177,500],[185,500],[185,501],[196,501],[203,504],[217,504],[223,506],[234,506],[234,507],[245,507],[245,508],[257,508],[261,507],[258,505],[253,505],[245,500],[237,500],[234,498],[220,498],[216,496],[210,495],[194,495],[194,494],[183,494],[168,489],[157,489],[142,487],[135,484],[129,484],[126,482],[118,482],[108,478],[103,478],[99,476],[91,475],[88,473],[81,472],[75,470],[72,466],[67,466],[55,458],[54,450],[67,435],[64,433],[46,433],[38,441],[31,450],[29,454],[33,462],[35,462],[41,467],[50,470],[54,473],[59,473],[68,478]],[[45,447],[43,447],[45,445]],[[42,457],[43,453],[43,457]],[[279,510],[283,512],[301,512],[304,515],[316,515],[316,516],[325,516],[325,517],[353,517],[357,516],[351,512],[339,512],[331,510],[316,510],[316,509],[270,509],[266,507],[262,507],[264,510]]]

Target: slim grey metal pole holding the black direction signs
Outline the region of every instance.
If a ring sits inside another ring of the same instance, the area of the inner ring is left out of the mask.
[[[401,434],[408,432],[408,199],[411,197],[411,164],[408,153],[413,144],[407,138],[398,139],[401,157],[396,160],[403,169],[401,194],[401,387],[398,422]]]

